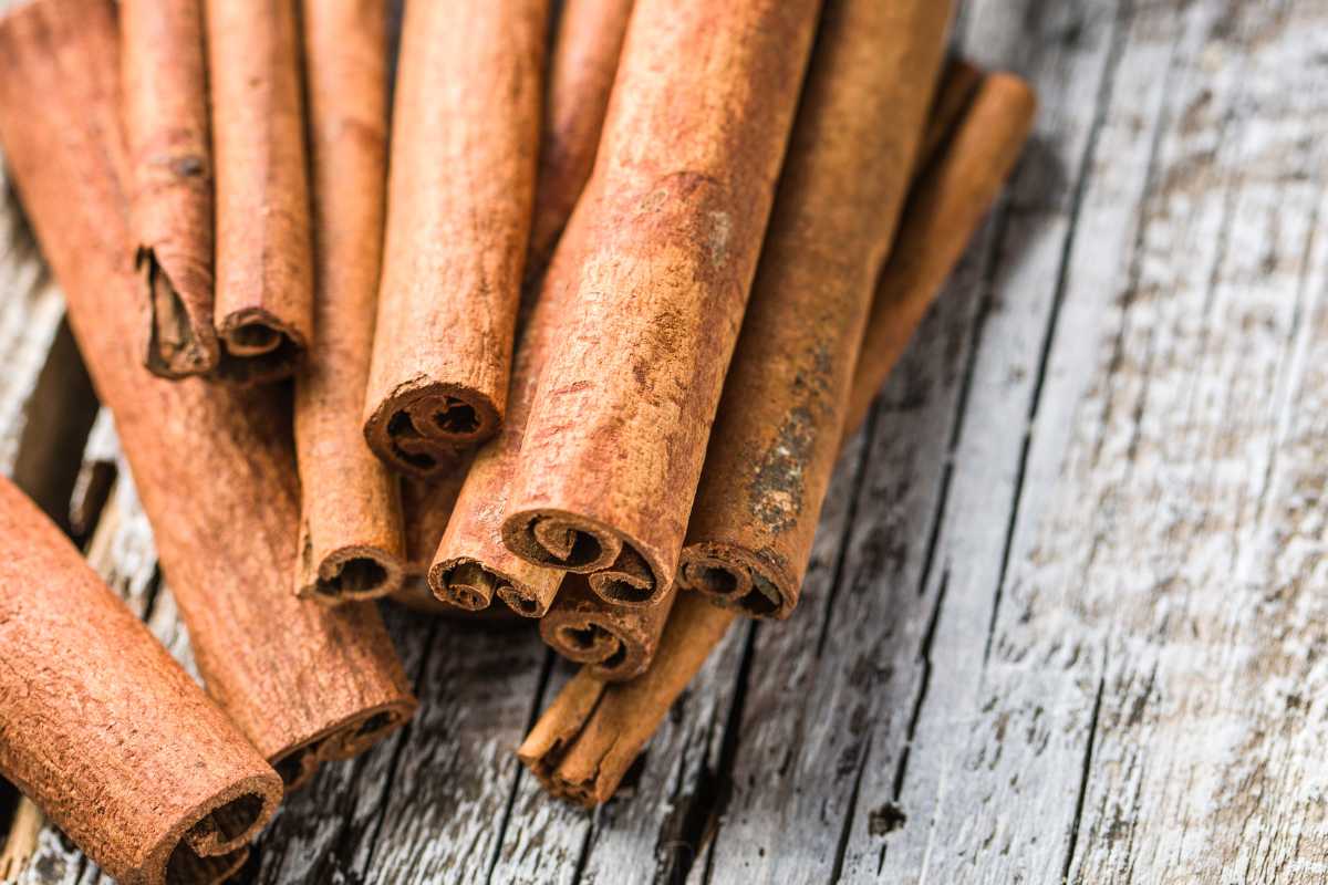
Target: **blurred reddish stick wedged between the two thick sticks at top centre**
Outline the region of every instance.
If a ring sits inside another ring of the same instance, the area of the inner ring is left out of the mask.
[[[544,269],[590,179],[632,0],[567,0],[548,58],[526,277]]]

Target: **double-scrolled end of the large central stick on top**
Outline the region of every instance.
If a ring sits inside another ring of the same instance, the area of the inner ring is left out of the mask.
[[[509,551],[535,565],[590,575],[606,602],[655,605],[668,589],[664,569],[631,539],[579,513],[535,508],[511,513],[502,527]]]

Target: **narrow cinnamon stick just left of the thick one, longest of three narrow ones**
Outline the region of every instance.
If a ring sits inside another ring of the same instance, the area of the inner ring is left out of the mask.
[[[398,480],[364,442],[386,191],[386,7],[303,0],[319,344],[295,383],[296,593],[340,604],[401,586]]]

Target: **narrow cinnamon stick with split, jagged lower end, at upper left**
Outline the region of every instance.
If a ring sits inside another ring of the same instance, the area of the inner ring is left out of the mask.
[[[134,255],[165,378],[207,374],[212,328],[212,150],[202,0],[124,0],[125,135],[134,163]]]

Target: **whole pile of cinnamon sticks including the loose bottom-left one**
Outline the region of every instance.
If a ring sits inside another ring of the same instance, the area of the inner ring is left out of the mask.
[[[394,60],[385,0],[0,20],[0,145],[208,694],[0,487],[0,772],[113,876],[224,878],[410,716],[384,596],[537,620],[584,667],[521,756],[608,799],[732,620],[793,614],[1033,115],[946,1],[551,5],[408,0]]]

